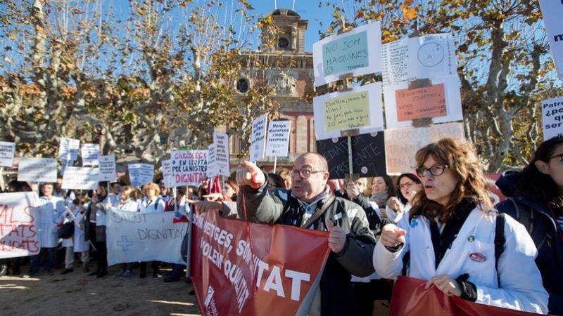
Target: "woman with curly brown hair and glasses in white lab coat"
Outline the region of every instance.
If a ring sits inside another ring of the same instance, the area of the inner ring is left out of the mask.
[[[394,278],[410,253],[407,275],[426,280],[445,296],[502,308],[545,313],[548,294],[534,263],[536,246],[524,226],[503,216],[505,238],[495,259],[496,212],[472,145],[444,138],[416,154],[424,191],[410,216],[385,225],[374,250],[374,268]],[[499,220],[502,223],[502,220]]]

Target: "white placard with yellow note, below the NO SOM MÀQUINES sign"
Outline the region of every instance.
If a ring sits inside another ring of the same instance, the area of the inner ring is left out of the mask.
[[[348,129],[360,129],[360,134],[383,131],[381,82],[315,97],[312,106],[317,140],[338,138]]]

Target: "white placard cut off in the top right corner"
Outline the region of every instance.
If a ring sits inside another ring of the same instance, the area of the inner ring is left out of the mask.
[[[559,0],[540,0],[543,22],[550,40],[551,55],[557,77],[563,80],[563,4]],[[545,138],[545,136],[544,136]]]

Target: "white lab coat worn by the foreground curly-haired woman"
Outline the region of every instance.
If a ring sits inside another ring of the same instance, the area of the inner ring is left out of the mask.
[[[506,216],[505,222],[505,251],[498,261],[502,285],[498,288],[495,223],[495,216],[474,209],[436,268],[428,219],[413,218],[409,224],[409,216],[404,216],[398,227],[407,231],[405,245],[393,253],[378,243],[374,249],[374,268],[381,277],[396,278],[403,269],[403,255],[410,251],[410,277],[428,280],[445,274],[456,279],[469,273],[468,281],[477,288],[476,303],[547,313],[548,293],[542,286],[540,271],[534,261],[538,251],[526,228],[510,216]],[[477,262],[469,258],[470,254],[481,254],[486,259]]]

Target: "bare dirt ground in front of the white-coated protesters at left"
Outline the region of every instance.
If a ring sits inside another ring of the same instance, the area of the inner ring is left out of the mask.
[[[29,265],[21,268],[27,272]],[[153,278],[149,264],[145,279],[139,278],[138,269],[131,279],[115,279],[118,270],[118,265],[110,267],[108,275],[100,279],[89,277],[82,268],[66,275],[60,275],[62,268],[58,268],[52,276],[43,276],[42,269],[29,279],[0,277],[0,315],[201,315],[196,296],[189,295],[193,288],[184,277],[165,283],[163,277]],[[170,268],[160,273],[167,271]]]

